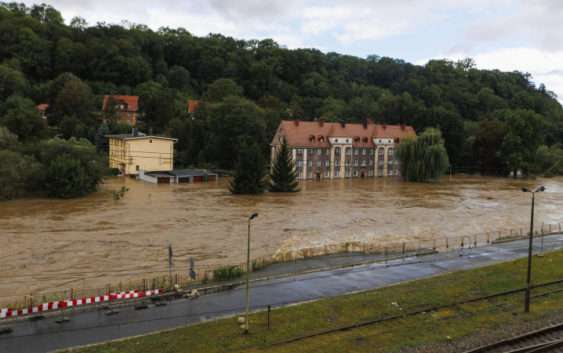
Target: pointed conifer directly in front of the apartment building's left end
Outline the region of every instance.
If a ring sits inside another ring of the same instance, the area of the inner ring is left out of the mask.
[[[296,192],[299,191],[295,165],[291,158],[287,141],[283,139],[280,150],[275,156],[274,166],[270,174],[271,192]]]

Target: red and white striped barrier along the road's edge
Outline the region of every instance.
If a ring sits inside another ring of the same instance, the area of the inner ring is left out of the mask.
[[[54,302],[48,302],[43,304],[38,304],[35,306],[30,306],[28,308],[23,309],[11,309],[11,308],[3,308],[0,309],[0,319],[5,319],[9,317],[18,317],[18,316],[26,316],[31,314],[37,314],[46,311],[52,310],[63,310],[67,308],[72,308],[75,306],[84,306],[84,305],[91,305],[97,303],[104,303],[104,302],[113,302],[116,300],[127,300],[127,299],[136,299],[136,298],[144,298],[144,297],[153,297],[160,294],[160,289],[154,290],[147,290],[147,291],[129,291],[129,292],[120,292],[120,293],[108,293],[105,295],[99,295],[94,297],[82,297],[80,299],[67,299],[67,300],[59,300]]]

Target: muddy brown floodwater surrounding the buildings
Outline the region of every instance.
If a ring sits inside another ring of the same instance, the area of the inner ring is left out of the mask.
[[[112,190],[130,191],[115,201]],[[232,196],[227,181],[152,185],[108,179],[76,200],[0,203],[0,297],[104,287],[176,266],[241,263],[247,216],[252,254],[266,256],[346,241],[388,241],[526,227],[530,195],[545,185],[537,222],[563,222],[563,178],[515,181],[454,176],[440,183],[398,179],[302,183],[302,192]],[[0,300],[2,301],[2,300]]]

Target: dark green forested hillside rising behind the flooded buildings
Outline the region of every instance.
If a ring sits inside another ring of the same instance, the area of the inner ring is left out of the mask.
[[[563,110],[525,73],[478,70],[471,59],[418,66],[197,37],[189,24],[69,23],[46,5],[0,6],[0,125],[20,141],[58,134],[103,146],[103,134],[123,127],[100,126],[101,96],[133,94],[142,130],[180,139],[180,165],[232,168],[245,138],[267,153],[281,119],[371,118],[438,127],[456,170],[563,172]],[[187,98],[203,100],[195,117]],[[33,110],[39,103],[49,104],[48,127]]]

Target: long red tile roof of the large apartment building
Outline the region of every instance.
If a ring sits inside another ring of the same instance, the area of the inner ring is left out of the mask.
[[[405,139],[416,136],[412,126],[366,124],[341,124],[321,121],[289,121],[280,123],[272,144],[285,137],[288,145],[308,148],[328,148],[329,137],[352,138],[354,147],[375,147],[374,138]]]

